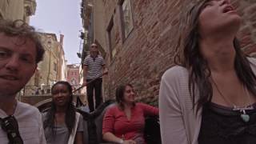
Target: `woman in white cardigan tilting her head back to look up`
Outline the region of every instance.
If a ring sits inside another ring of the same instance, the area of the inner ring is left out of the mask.
[[[162,76],[164,144],[256,143],[256,60],[242,53],[241,17],[230,0],[190,2],[176,66]]]

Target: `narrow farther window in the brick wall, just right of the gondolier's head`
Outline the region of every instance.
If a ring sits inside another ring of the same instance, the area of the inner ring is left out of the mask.
[[[117,50],[115,49],[115,30],[114,30],[114,22],[113,18],[110,20],[110,24],[107,28],[107,34],[109,38],[110,43],[110,52],[111,52],[111,59],[114,58],[114,55],[117,53]]]

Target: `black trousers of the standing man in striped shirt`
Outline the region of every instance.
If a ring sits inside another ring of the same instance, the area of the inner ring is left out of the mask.
[[[86,79],[86,82],[90,82],[91,79]],[[97,78],[94,82],[90,82],[86,86],[87,101],[89,104],[90,112],[94,111],[94,94],[95,94],[95,109],[102,103],[102,78]]]

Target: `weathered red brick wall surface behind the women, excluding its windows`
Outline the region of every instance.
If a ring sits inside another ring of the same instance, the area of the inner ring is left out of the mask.
[[[106,96],[114,98],[116,86],[130,82],[138,92],[138,99],[157,103],[160,78],[173,65],[174,38],[182,2],[184,0],[131,0],[134,30],[122,42],[118,1],[104,1],[106,15],[103,26],[108,26],[113,16],[117,49],[112,60],[110,50],[106,50],[106,58],[109,58],[106,60],[109,74],[104,78]],[[238,34],[243,49],[247,53],[256,52],[256,2],[233,2],[243,19]]]

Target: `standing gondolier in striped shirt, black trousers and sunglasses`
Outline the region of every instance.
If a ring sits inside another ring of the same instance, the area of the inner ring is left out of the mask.
[[[102,103],[102,75],[107,74],[105,61],[98,52],[98,46],[93,43],[90,45],[90,55],[83,62],[83,84],[86,86],[87,101],[90,112]],[[95,79],[93,82],[91,80]],[[89,83],[90,82],[90,83]],[[88,83],[88,84],[87,84]]]

